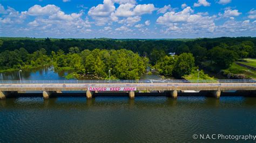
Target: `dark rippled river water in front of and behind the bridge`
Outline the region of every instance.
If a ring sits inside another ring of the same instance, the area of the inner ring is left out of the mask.
[[[48,67],[24,70],[21,75],[23,80],[64,80],[70,72]],[[2,73],[0,78],[18,80],[19,76],[16,71]],[[256,135],[255,125],[256,98],[242,96],[19,97],[0,101],[0,142],[192,142],[196,141],[193,134]]]

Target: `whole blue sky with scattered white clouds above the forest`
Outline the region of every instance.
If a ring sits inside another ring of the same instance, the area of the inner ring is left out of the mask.
[[[255,37],[255,7],[255,0],[0,0],[0,37]]]

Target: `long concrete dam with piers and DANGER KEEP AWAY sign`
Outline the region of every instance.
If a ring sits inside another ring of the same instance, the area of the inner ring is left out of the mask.
[[[0,81],[0,99],[11,94],[41,92],[44,99],[65,91],[83,92],[90,99],[97,93],[125,92],[130,98],[144,92],[177,98],[181,92],[205,92],[219,98],[222,92],[247,92],[255,97],[255,80],[36,80]]]

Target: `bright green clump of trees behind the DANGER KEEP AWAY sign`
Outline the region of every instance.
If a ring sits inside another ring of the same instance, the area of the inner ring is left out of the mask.
[[[111,78],[139,79],[146,71],[149,60],[126,49],[85,49],[79,52],[78,47],[71,47],[68,54],[62,50],[52,52],[55,68],[71,67],[77,73],[92,74],[106,78],[111,72]]]

